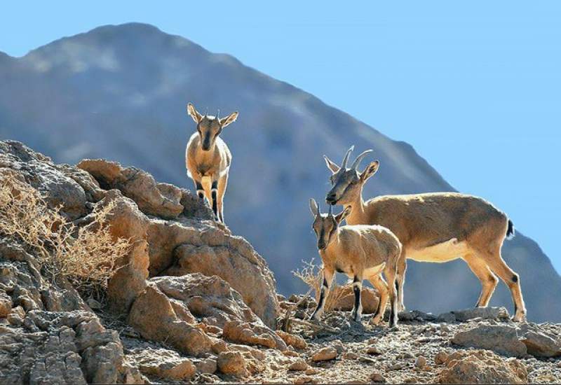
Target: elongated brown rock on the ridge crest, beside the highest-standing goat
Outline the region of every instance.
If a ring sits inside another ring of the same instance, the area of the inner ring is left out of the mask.
[[[179,188],[158,184],[153,176],[136,167],[123,168],[119,163],[102,159],[85,159],[77,167],[93,175],[102,188],[121,190],[146,214],[177,218],[183,211]]]

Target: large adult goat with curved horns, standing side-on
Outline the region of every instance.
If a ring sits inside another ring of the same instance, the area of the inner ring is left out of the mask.
[[[405,258],[398,262],[398,295],[403,306],[403,283],[406,258],[419,262],[448,262],[462,258],[481,281],[478,307],[486,307],[498,283],[498,275],[511,290],[514,321],[523,321],[526,307],[520,290],[520,278],[501,257],[505,237],[514,235],[513,223],[506,214],[480,197],[459,193],[426,193],[414,195],[384,195],[364,202],[363,186],[379,167],[371,162],[358,172],[360,161],[372,152],[358,155],[350,168],[346,167],[346,152],[339,167],[324,155],[332,189],[325,200],[328,204],[353,207],[347,218],[350,225],[382,225],[390,229],[403,244]]]

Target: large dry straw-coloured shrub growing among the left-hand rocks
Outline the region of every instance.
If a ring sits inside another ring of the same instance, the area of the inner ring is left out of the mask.
[[[116,260],[130,251],[128,239],[111,237],[107,218],[112,209],[112,202],[97,207],[92,221],[77,227],[13,173],[0,175],[0,235],[25,246],[53,278],[62,276],[81,294],[98,299]]]

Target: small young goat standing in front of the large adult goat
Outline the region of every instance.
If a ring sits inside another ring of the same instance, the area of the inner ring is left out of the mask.
[[[377,324],[384,316],[388,293],[391,303],[390,327],[398,322],[398,295],[396,291],[396,269],[401,255],[401,244],[393,233],[379,225],[339,226],[351,213],[351,207],[333,216],[332,206],[329,214],[321,214],[315,200],[310,200],[313,214],[313,231],[318,238],[318,251],[323,261],[323,282],[320,289],[318,306],[311,319],[318,319],[323,313],[325,298],[335,276],[335,272],[345,273],[353,278],[355,303],[352,317],[360,322],[363,305],[360,291],[363,279],[368,279],[380,293],[378,307],[372,323]],[[384,272],[386,281],[381,276]]]

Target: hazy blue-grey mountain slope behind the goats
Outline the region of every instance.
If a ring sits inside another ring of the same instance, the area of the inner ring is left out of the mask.
[[[323,200],[321,155],[374,149],[380,171],[364,196],[453,190],[413,148],[392,141],[311,94],[141,24],[106,26],[62,38],[20,58],[0,55],[0,139],[17,139],[57,162],[110,158],[160,181],[192,188],[184,146],[194,132],[185,105],[238,110],[222,136],[234,155],[225,218],[276,273],[284,293],[302,289],[290,271],[318,260],[309,197]],[[435,149],[438,151],[438,149]],[[518,235],[503,255],[520,274],[529,318],[560,321],[561,278],[534,241]],[[471,306],[480,284],[462,261],[410,262],[405,302],[445,311]],[[503,284],[492,304],[511,307]]]

